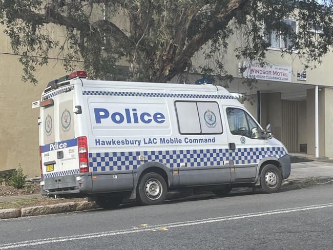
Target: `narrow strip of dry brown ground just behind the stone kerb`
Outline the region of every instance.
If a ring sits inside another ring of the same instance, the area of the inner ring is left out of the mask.
[[[39,199],[0,202],[0,209],[22,209],[23,207],[29,207],[29,206],[43,206],[43,205],[59,204],[64,202],[80,202],[80,201],[87,201],[87,198],[53,199],[49,197],[42,197]]]

